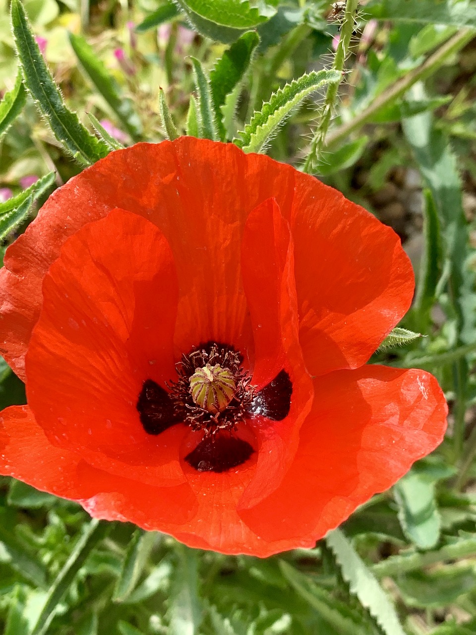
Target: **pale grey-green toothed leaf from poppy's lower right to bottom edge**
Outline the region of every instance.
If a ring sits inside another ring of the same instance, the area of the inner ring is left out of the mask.
[[[326,544],[333,552],[350,591],[377,620],[385,635],[405,635],[392,603],[342,531],[329,531]]]

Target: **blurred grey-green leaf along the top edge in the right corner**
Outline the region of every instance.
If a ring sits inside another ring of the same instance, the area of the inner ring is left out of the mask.
[[[370,0],[364,11],[376,20],[402,20],[476,29],[476,5],[471,0]],[[367,16],[366,16],[367,18]]]

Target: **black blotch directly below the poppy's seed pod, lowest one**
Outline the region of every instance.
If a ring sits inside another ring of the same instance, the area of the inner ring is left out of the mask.
[[[226,472],[243,464],[254,451],[243,439],[218,432],[202,439],[185,460],[199,472]]]

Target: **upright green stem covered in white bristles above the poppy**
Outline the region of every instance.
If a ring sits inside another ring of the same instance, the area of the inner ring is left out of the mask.
[[[359,0],[347,0],[345,3],[340,39],[337,45],[332,70],[338,70],[339,72],[344,70],[345,60],[348,57],[350,48],[350,39],[352,38],[352,32],[354,32],[355,13],[357,12],[358,4]],[[324,104],[322,104],[321,111],[319,112],[319,125],[314,133],[310,152],[303,165],[303,171],[307,173],[312,171],[314,168],[317,157],[321,153],[322,147],[324,147],[327,130],[329,130],[329,124],[331,123],[334,112],[334,105],[336,103],[339,86],[340,82],[335,82],[327,86],[326,98],[324,99]]]

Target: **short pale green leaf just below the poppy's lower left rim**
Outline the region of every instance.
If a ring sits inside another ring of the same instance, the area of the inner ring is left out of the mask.
[[[124,601],[134,591],[158,536],[156,531],[134,531],[122,564],[121,575],[112,594],[114,602]]]

